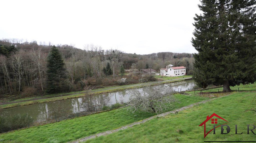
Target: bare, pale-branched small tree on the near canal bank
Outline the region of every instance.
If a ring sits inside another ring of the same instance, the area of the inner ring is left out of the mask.
[[[129,109],[131,112],[161,113],[173,107],[175,101],[168,85],[147,86],[130,91]]]

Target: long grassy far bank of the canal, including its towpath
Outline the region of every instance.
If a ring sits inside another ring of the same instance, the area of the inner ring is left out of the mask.
[[[0,109],[6,109],[6,108],[12,108],[17,106],[25,106],[25,105],[31,105],[31,104],[37,104],[37,103],[44,103],[44,102],[52,102],[52,101],[58,101],[58,100],[66,100],[70,98],[77,98],[77,97],[83,97],[87,95],[97,95],[97,94],[103,94],[103,93],[111,93],[116,91],[122,91],[127,89],[134,89],[134,88],[142,88],[148,85],[158,85],[158,84],[164,84],[164,83],[172,83],[172,82],[179,82],[184,81],[187,79],[192,79],[192,77],[181,77],[181,78],[174,78],[170,80],[163,80],[163,81],[156,81],[156,82],[146,82],[146,83],[139,83],[139,84],[131,84],[131,85],[122,85],[122,86],[113,86],[113,87],[107,87],[104,89],[96,89],[96,90],[90,90],[90,91],[79,91],[79,92],[71,92],[71,93],[63,93],[63,94],[51,94],[51,95],[45,95],[40,98],[23,98],[18,99],[12,102],[6,102],[6,103],[0,103]]]

